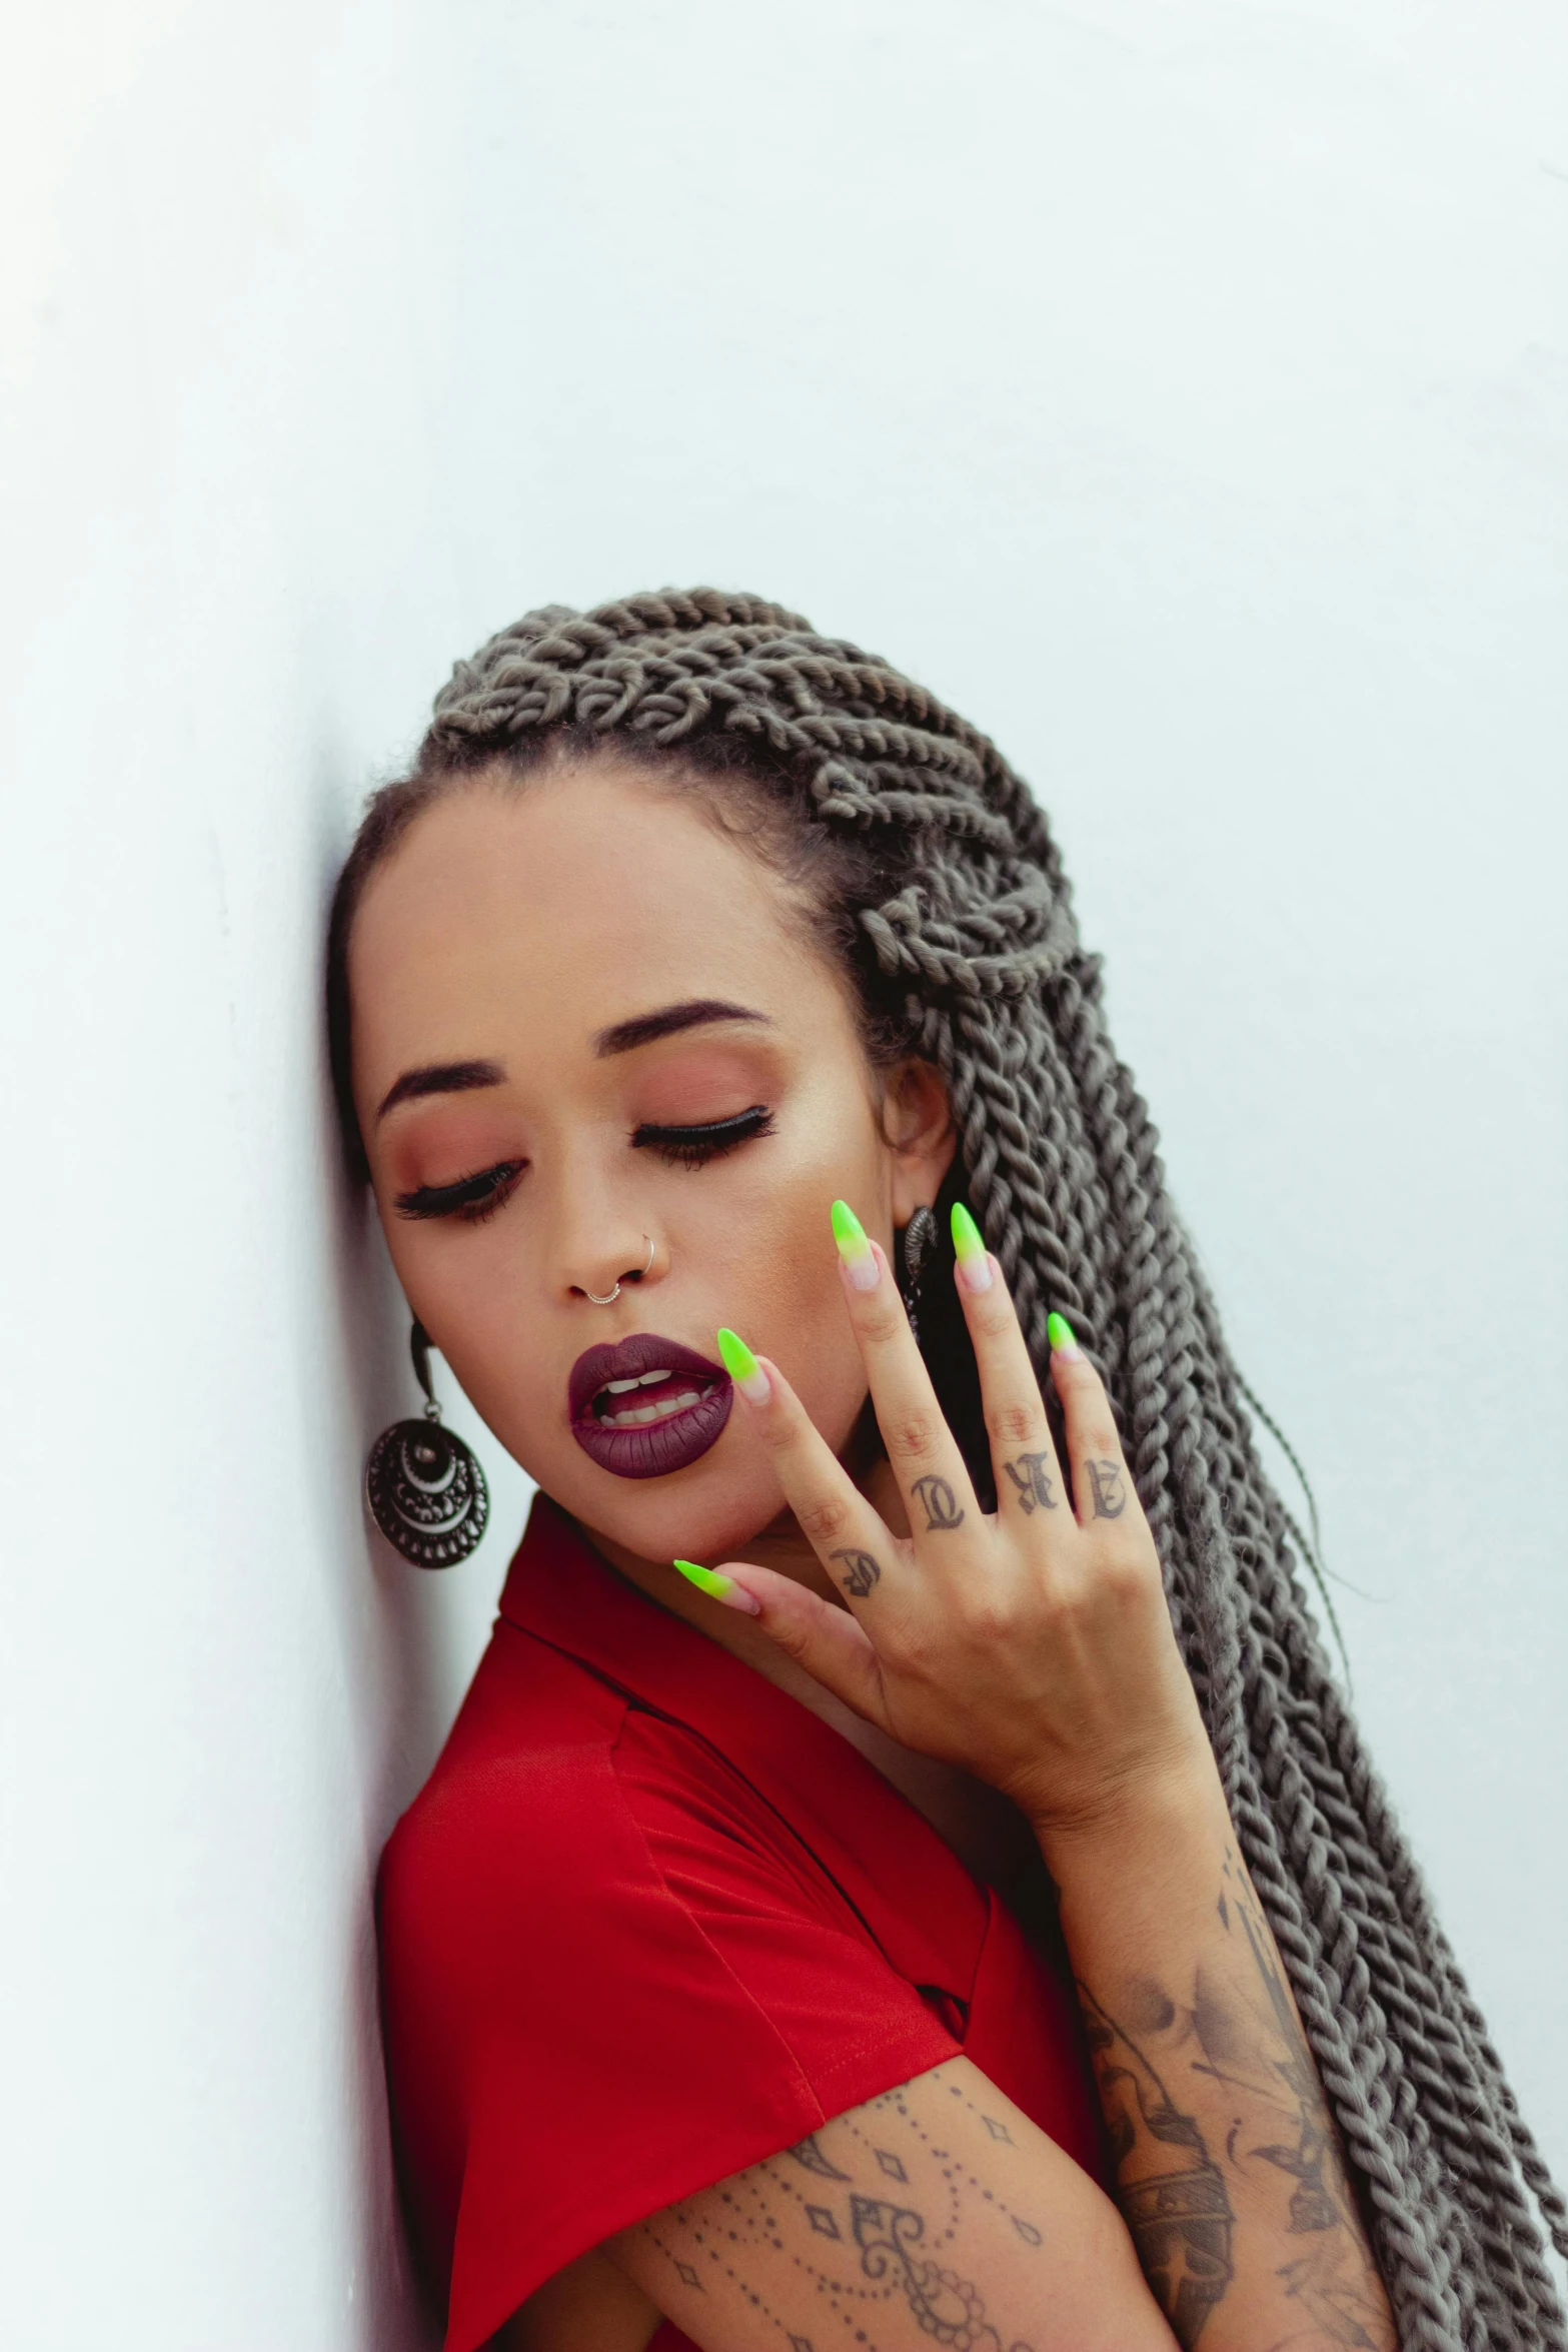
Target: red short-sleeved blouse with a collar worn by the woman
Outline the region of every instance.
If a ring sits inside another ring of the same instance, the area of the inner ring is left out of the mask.
[[[447,2352],[614,2230],[959,2049],[1100,2176],[1072,1997],[1001,1898],[545,1496],[388,1842],[378,1919],[397,2157]]]

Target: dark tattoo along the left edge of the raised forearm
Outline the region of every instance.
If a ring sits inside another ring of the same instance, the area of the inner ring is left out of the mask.
[[[1180,2114],[1138,2044],[1086,1985],[1079,1985],[1079,1999],[1121,2213],[1171,2333],[1182,2352],[1192,2352],[1234,2277],[1225,2176],[1197,2122]]]

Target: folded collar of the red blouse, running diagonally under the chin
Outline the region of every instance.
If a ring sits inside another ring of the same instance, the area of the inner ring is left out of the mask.
[[[969,1999],[990,1898],[924,1813],[832,1724],[616,1576],[543,1494],[508,1571],[501,1616],[708,1740],[858,1910],[875,1870],[886,1917],[900,1922],[900,1971]]]

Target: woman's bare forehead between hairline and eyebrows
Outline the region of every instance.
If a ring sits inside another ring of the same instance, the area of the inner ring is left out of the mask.
[[[355,915],[355,1065],[583,1044],[686,997],[799,1028],[846,983],[785,884],[701,804],[639,776],[475,781],[416,818]],[[505,1028],[510,1035],[496,1035]]]

